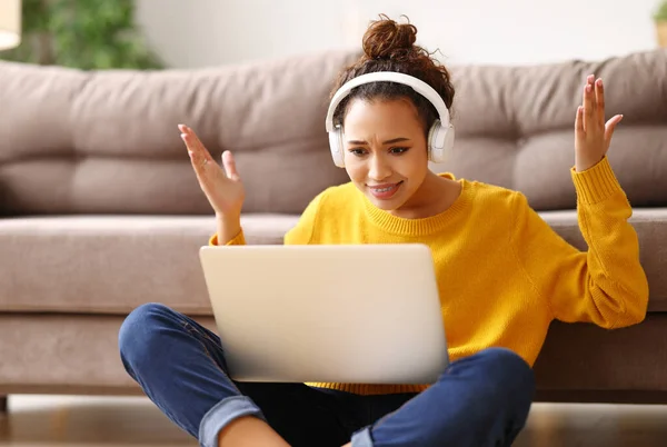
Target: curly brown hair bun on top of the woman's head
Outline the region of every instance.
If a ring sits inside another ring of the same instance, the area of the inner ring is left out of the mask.
[[[397,52],[405,53],[417,41],[417,28],[398,23],[385,14],[371,22],[364,34],[364,52],[371,59],[390,59]]]

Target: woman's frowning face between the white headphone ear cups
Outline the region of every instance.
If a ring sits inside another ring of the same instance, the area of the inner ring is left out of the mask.
[[[355,186],[382,210],[406,206],[429,172],[412,101],[354,99],[342,128],[345,167]]]

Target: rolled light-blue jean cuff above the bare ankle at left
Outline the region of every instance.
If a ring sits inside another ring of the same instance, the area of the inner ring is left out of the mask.
[[[220,400],[203,415],[199,425],[199,443],[203,447],[218,447],[218,435],[232,420],[241,416],[256,416],[267,421],[261,410],[247,396],[232,396]]]

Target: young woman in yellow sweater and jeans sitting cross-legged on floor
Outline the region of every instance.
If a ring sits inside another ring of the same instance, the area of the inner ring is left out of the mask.
[[[400,72],[450,108],[449,73],[415,46],[416,32],[387,18],[371,23],[365,54],[334,92],[364,74]],[[438,101],[417,90],[370,81],[342,98],[331,145],[340,146],[335,158],[351,181],[316,197],[285,242],[428,245],[450,367],[429,386],[235,383],[215,334],[143,305],[120,330],[123,365],[202,446],[509,446],[526,421],[531,366],[551,320],[616,328],[645,317],[648,286],[627,221],[631,208],[606,158],[621,116],[605,125],[601,80],[588,77],[574,117],[571,178],[587,252],[557,236],[524,195],[431,172],[428,160],[442,143],[431,129],[447,128],[437,121]],[[217,216],[210,242],[245,244],[245,190],[231,153],[222,170],[191,129],[180,130]],[[400,266],[387,268],[400,274]]]

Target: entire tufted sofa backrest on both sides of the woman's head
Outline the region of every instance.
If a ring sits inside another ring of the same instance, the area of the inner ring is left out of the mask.
[[[84,72],[0,62],[0,212],[210,213],[177,125],[219,160],[235,152],[245,212],[299,213],[348,180],[325,130],[329,89],[354,51],[196,70]],[[586,74],[608,118],[609,159],[635,207],[667,206],[667,50],[598,62],[451,67],[455,151],[436,171],[576,207],[574,119]]]

